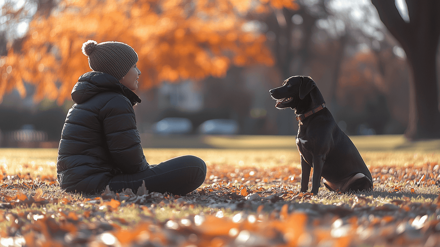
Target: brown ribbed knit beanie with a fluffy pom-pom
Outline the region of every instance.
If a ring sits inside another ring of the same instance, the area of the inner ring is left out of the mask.
[[[97,44],[88,40],[82,45],[82,52],[88,56],[88,65],[97,72],[103,72],[122,79],[138,61],[135,50],[128,44],[107,41]]]

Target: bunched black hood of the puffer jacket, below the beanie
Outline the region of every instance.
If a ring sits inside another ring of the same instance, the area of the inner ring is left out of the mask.
[[[77,84],[73,86],[71,95],[73,102],[81,104],[101,92],[108,91],[118,92],[124,95],[130,100],[132,105],[141,102],[136,93],[119,83],[115,77],[110,74],[95,71],[81,75],[78,78]]]

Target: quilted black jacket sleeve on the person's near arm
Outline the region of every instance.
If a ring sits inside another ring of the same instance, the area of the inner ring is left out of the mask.
[[[111,159],[122,173],[137,173],[149,165],[143,155],[135,112],[122,95],[109,100],[99,111]]]

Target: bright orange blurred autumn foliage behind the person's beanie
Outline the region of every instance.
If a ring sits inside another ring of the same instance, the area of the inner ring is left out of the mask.
[[[249,12],[283,7],[297,5],[290,0],[61,0],[48,17],[34,16],[20,50],[11,48],[0,59],[0,102],[13,88],[25,96],[23,82],[36,86],[37,101],[70,98],[77,78],[90,70],[81,53],[89,39],[131,45],[143,72],[141,89],[161,81],[222,77],[232,64],[271,66],[264,34],[242,25]]]

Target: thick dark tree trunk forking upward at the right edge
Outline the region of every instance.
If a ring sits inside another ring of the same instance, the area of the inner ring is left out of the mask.
[[[440,35],[440,1],[406,0],[409,18],[394,0],[372,0],[390,33],[402,45],[411,68],[409,139],[439,138],[440,112],[436,51]]]

